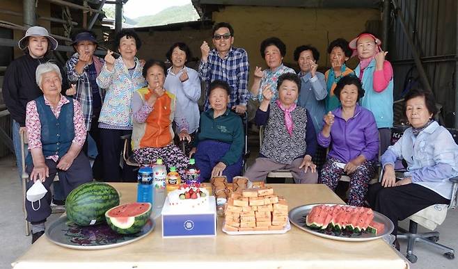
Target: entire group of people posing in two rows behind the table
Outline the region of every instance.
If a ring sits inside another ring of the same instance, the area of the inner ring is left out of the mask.
[[[126,135],[132,136],[139,164],[161,158],[185,177],[194,156],[202,179],[224,175],[232,181],[242,174],[246,133],[241,115],[253,99],[259,101],[255,123],[264,133],[260,155],[244,174],[251,181],[286,169],[296,183],[321,183],[335,190],[340,177],[347,175],[348,203],[363,206],[367,200],[395,223],[430,204],[449,201],[448,178],[458,174],[458,146],[434,121],[431,92],[409,92],[405,101],[411,128],[390,146],[393,68],[379,38],[361,33],[351,42],[333,40],[327,49],[331,68],[324,74],[317,71],[315,47],[294,50],[299,66],[294,72],[283,64],[285,43],[267,38],[260,44],[267,69],[255,67],[250,89],[248,54],[232,46],[234,38],[230,24],[215,24],[214,48],[203,42],[196,71],[186,66],[192,55],[182,42],[168,49],[167,69],[160,60],[136,57],[141,40],[134,31],[120,31],[115,51],[107,51],[104,58],[94,55],[94,33],[84,31],[74,36],[75,53],[61,68],[49,61],[56,40],[45,28],[29,28],[19,41],[25,55],[10,64],[3,83],[18,168],[21,133],[29,140],[27,188],[41,180],[49,190],[58,172],[65,199],[72,188],[94,178],[122,180],[120,138]],[[346,65],[352,56],[359,60],[355,70]],[[205,83],[203,90],[200,81]],[[200,113],[202,92],[205,104]],[[98,151],[92,170],[88,138]],[[188,141],[184,152],[176,140]],[[380,184],[369,186],[379,154],[386,172]],[[409,165],[400,181],[393,169],[397,158]],[[33,241],[43,234],[51,212],[50,192],[45,199],[37,210],[26,202]]]

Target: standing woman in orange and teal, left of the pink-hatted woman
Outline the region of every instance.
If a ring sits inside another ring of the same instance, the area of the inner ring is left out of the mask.
[[[329,44],[328,54],[331,68],[324,73],[326,90],[328,92],[326,98],[326,111],[333,111],[340,106],[338,96],[334,95],[335,85],[337,85],[342,77],[353,74],[353,70],[345,65],[347,60],[352,56],[352,49],[348,47],[347,40],[338,38]]]

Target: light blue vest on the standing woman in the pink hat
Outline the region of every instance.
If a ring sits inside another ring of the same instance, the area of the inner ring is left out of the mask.
[[[358,65],[354,73],[359,77],[361,71]],[[377,122],[377,128],[393,127],[393,78],[383,92],[376,92],[373,87],[375,72],[375,60],[372,59],[368,67],[363,73],[363,89],[365,90],[364,97],[361,99],[361,106],[370,110]]]

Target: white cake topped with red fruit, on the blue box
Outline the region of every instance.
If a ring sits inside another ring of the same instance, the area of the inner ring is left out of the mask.
[[[209,196],[208,190],[205,188],[199,188],[198,185],[184,185],[168,193],[167,200],[171,208],[177,208],[180,211],[195,210],[207,208]]]

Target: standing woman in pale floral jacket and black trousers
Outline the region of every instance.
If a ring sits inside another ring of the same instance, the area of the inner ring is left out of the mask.
[[[143,67],[135,56],[141,47],[139,36],[132,30],[123,30],[116,35],[115,42],[121,56],[115,59],[113,52],[108,51],[97,76],[97,85],[106,89],[99,117],[105,181],[121,180],[117,165],[123,149],[120,137],[132,133],[132,95],[146,85]]]

